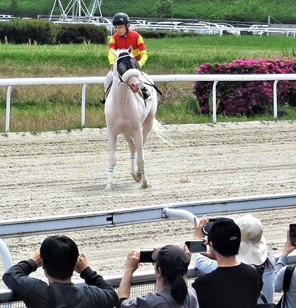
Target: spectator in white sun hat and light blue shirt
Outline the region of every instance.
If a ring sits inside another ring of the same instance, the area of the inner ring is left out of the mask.
[[[199,221],[199,224],[195,224],[194,236],[196,239],[204,238],[202,228],[208,220],[207,217],[203,217]],[[275,258],[271,253],[268,253],[266,241],[263,236],[262,223],[260,219],[253,215],[246,214],[239,217],[236,220],[236,224],[241,229],[241,245],[236,258],[241,263],[264,265],[262,292],[268,303],[273,303]],[[194,253],[193,258],[195,267],[203,274],[210,273],[217,267],[216,260],[212,260],[201,253]],[[262,300],[259,298],[258,304],[262,303]]]

